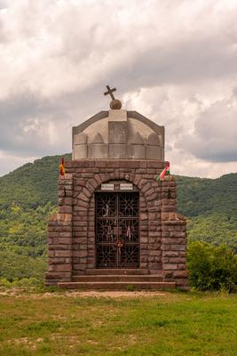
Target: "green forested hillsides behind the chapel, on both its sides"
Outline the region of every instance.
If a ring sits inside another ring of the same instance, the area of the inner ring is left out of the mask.
[[[60,156],[36,159],[0,177],[0,278],[42,273],[46,223],[57,206],[59,160]],[[237,174],[176,178],[178,212],[187,217],[189,240],[225,243],[237,251]]]

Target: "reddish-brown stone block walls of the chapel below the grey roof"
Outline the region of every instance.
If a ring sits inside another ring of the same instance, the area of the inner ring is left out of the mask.
[[[186,220],[177,214],[175,179],[156,182],[163,162],[154,160],[80,159],[66,163],[59,179],[59,214],[48,232],[46,284],[72,279],[95,268],[94,191],[104,182],[132,182],[139,190],[140,268],[163,271],[164,281],[187,287]]]

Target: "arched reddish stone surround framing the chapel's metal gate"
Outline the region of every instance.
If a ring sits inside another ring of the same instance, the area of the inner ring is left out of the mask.
[[[95,198],[94,193],[98,190],[101,184],[111,181],[117,182],[129,182],[134,184],[134,187],[139,192],[139,267],[143,269],[148,269],[151,263],[157,264],[157,257],[161,256],[158,249],[160,248],[160,243],[155,239],[157,235],[160,241],[160,231],[157,232],[157,226],[155,226],[154,220],[157,219],[157,214],[149,211],[148,206],[151,206],[152,199],[158,198],[157,193],[157,183],[152,186],[150,182],[143,179],[142,174],[126,174],[124,172],[115,171],[113,174],[95,174],[93,179],[89,179],[82,190],[77,196],[78,205],[76,209],[80,210],[80,214],[87,216],[87,224],[82,223],[81,228],[81,243],[78,245],[78,237],[75,235],[80,229],[78,226],[73,228],[73,270],[82,271],[81,268],[93,269],[96,267],[96,240],[95,240]],[[74,183],[76,186],[76,182]],[[156,190],[155,190],[156,188]],[[159,210],[159,206],[156,206],[156,210]],[[154,211],[154,209],[152,209]],[[159,213],[160,214],[160,213]],[[76,223],[78,224],[78,223]],[[148,225],[151,225],[150,230]],[[156,229],[156,231],[154,231]],[[159,229],[159,227],[158,227]],[[76,230],[76,233],[75,233]],[[86,239],[85,239],[86,237]],[[153,251],[150,250],[150,243]],[[151,255],[150,255],[151,253]],[[157,255],[157,256],[156,256]],[[80,265],[78,265],[78,257],[80,257]],[[78,270],[78,267],[80,270]]]

